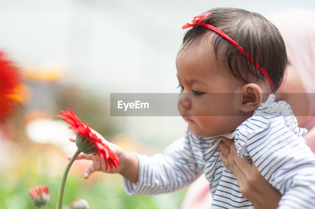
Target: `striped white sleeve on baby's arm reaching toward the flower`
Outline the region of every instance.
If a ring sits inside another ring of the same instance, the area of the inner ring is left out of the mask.
[[[188,132],[188,131],[187,131]],[[139,181],[124,179],[128,195],[153,195],[179,190],[196,180],[203,172],[202,154],[192,150],[188,134],[169,145],[163,154],[152,157],[137,155]],[[197,150],[197,147],[195,147]]]

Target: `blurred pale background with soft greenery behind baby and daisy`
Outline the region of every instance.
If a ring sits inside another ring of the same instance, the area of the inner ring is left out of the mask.
[[[268,17],[283,8],[315,10],[315,2],[0,1],[0,51],[23,77],[15,112],[0,125],[0,208],[34,208],[27,193],[34,185],[49,186],[51,200],[44,208],[55,207],[67,155],[76,150],[68,141],[74,133],[55,117],[67,107],[131,152],[163,152],[181,137],[181,117],[111,117],[110,93],[177,93],[181,26],[214,7]],[[95,173],[84,180],[89,164],[77,161],[70,169],[64,208],[77,198],[91,208],[180,208],[185,190],[130,197],[118,174]]]

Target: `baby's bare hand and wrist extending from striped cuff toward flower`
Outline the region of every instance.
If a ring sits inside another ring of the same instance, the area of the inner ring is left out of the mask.
[[[133,183],[137,183],[138,175],[139,175],[139,161],[136,155],[125,151],[123,148],[117,146],[116,144],[107,142],[100,134],[98,134],[96,131],[94,132],[98,135],[98,137],[102,139],[102,141],[106,145],[108,145],[117,154],[119,158],[120,165],[117,167],[117,169],[113,167],[112,173],[119,173],[124,178],[128,179],[129,181]],[[71,142],[75,142],[76,137],[72,136],[69,138],[69,140]],[[70,160],[71,157],[72,155],[68,156],[68,160]],[[95,171],[103,171],[105,173],[111,173],[110,169],[107,169],[107,170],[105,169],[106,168],[105,161],[103,158],[100,158],[98,155],[80,153],[76,159],[77,160],[87,159],[87,160],[93,161],[93,164],[90,165],[87,169],[85,169],[83,173],[83,176],[85,179],[88,179],[89,176]]]

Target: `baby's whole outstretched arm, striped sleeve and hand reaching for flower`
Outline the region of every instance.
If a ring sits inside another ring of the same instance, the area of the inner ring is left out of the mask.
[[[120,165],[117,169],[113,168],[112,173],[124,177],[124,187],[129,195],[172,192],[189,185],[203,172],[202,154],[193,153],[196,151],[192,150],[193,141],[189,139],[188,127],[185,136],[169,145],[164,154],[157,153],[152,157],[127,152],[95,133],[117,154]],[[75,142],[75,137],[70,137],[70,141]],[[68,156],[68,159],[71,157]],[[81,153],[76,159],[93,161],[84,171],[85,179],[95,171],[110,173],[109,169],[105,169],[104,159],[97,155]]]

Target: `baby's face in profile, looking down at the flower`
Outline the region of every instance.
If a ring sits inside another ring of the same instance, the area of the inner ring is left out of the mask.
[[[246,120],[235,93],[238,83],[218,64],[212,48],[193,43],[178,53],[176,67],[181,88],[177,106],[192,133],[214,137]]]

